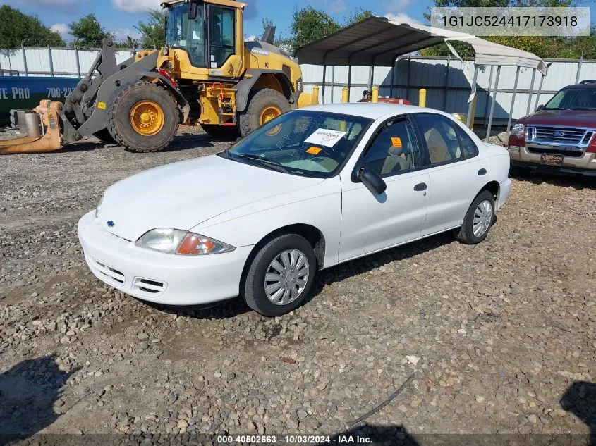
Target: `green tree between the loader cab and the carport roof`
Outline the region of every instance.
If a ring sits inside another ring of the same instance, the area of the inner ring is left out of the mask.
[[[324,11],[312,8],[312,6],[306,6],[302,9],[296,8],[292,15],[291,36],[288,39],[288,47],[296,50],[306,44],[327,37],[340,29],[339,23]]]

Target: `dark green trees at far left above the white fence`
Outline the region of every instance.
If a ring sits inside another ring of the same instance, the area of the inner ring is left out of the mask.
[[[0,49],[10,52],[21,44],[52,45],[64,47],[65,43],[57,32],[44,26],[39,18],[27,16],[10,6],[0,8]]]

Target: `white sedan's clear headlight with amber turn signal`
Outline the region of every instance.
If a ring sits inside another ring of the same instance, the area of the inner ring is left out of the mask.
[[[229,244],[199,234],[168,228],[152,229],[142,235],[135,244],[154,251],[190,256],[221,254],[236,249]]]

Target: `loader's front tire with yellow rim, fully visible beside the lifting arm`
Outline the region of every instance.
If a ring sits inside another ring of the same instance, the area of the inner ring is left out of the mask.
[[[164,149],[180,123],[176,99],[163,87],[143,81],[118,92],[107,115],[107,128],[114,140],[137,152]]]

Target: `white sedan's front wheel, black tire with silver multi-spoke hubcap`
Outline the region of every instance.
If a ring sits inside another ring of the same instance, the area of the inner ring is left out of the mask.
[[[257,252],[242,295],[257,313],[281,316],[304,301],[316,271],[317,259],[310,243],[300,235],[281,235]]]

